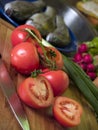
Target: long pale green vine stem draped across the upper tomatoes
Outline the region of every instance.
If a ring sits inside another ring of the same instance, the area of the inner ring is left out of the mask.
[[[42,40],[40,40],[40,39],[34,34],[34,32],[33,32],[32,30],[30,30],[30,29],[28,29],[28,28],[25,28],[25,30],[26,30],[31,36],[33,36],[33,37],[37,40],[38,44],[40,45],[40,47],[41,47],[42,50],[43,50],[43,53],[44,53],[46,62],[49,64],[49,66],[52,67],[52,69],[54,69],[54,68],[55,68],[55,63],[48,58],[47,52],[46,52],[46,50],[45,50],[45,48],[44,48],[44,46],[43,46],[43,44],[42,44]]]

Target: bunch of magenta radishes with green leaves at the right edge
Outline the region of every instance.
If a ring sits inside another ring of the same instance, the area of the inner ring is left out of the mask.
[[[77,48],[77,53],[73,57],[73,61],[86,72],[91,80],[97,77],[97,55],[98,37],[95,37],[92,41],[80,44]]]

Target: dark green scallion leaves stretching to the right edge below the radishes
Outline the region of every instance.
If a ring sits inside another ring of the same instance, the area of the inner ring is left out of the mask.
[[[98,89],[78,65],[64,55],[63,59],[64,66],[66,67],[70,78],[74,81],[78,89],[82,92],[98,115]]]

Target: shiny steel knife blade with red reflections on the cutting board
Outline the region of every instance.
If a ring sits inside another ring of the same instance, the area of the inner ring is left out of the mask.
[[[7,68],[1,58],[0,58],[0,87],[5,97],[7,98],[10,108],[14,113],[17,121],[19,122],[21,128],[23,130],[30,130],[26,113],[15,90],[14,83],[11,77],[9,76]]]

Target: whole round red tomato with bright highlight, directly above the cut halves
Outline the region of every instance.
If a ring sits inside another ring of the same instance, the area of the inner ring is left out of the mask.
[[[11,51],[11,64],[22,74],[30,74],[39,67],[36,47],[29,42],[15,46]]]

